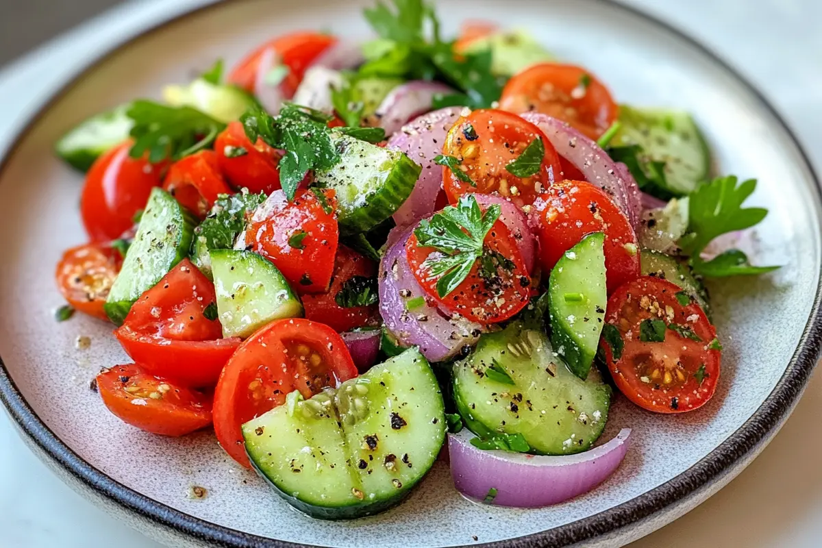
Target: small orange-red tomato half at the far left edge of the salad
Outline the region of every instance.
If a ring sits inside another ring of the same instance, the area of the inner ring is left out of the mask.
[[[54,277],[62,296],[76,310],[108,321],[103,305],[121,267],[120,251],[107,243],[87,243],[62,254]]]

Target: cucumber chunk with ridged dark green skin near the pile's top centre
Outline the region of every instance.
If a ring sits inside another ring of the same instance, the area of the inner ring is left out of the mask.
[[[340,160],[314,179],[337,193],[339,233],[364,233],[388,219],[409,197],[422,167],[399,150],[336,134]]]

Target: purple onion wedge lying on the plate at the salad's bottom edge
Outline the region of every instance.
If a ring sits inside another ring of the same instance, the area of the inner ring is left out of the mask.
[[[625,458],[630,428],[584,453],[542,457],[506,451],[484,451],[470,443],[468,431],[448,435],[451,477],[463,495],[490,504],[538,508],[587,493],[605,481]],[[493,492],[493,491],[492,491]]]

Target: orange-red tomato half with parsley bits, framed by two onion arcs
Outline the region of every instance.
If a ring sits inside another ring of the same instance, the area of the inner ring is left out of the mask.
[[[469,139],[470,128],[476,133]],[[520,179],[506,165],[520,156],[535,139],[543,141],[543,164],[532,177]],[[448,200],[455,204],[469,192],[510,197],[520,207],[533,202],[543,188],[559,180],[560,158],[542,130],[516,114],[502,110],[479,109],[460,117],[448,131],[442,154],[462,160],[465,172],[477,184],[462,182],[450,168],[443,166],[442,181]]]

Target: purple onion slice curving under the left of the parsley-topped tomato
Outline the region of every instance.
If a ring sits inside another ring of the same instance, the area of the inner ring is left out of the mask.
[[[465,345],[476,343],[482,326],[461,316],[441,315],[436,306],[428,306],[427,302],[412,311],[407,309],[406,302],[425,297],[405,255],[405,242],[411,230],[395,228],[399,234],[392,238],[394,244],[380,261],[380,314],[401,345],[418,346],[428,360],[443,361],[454,357]]]

